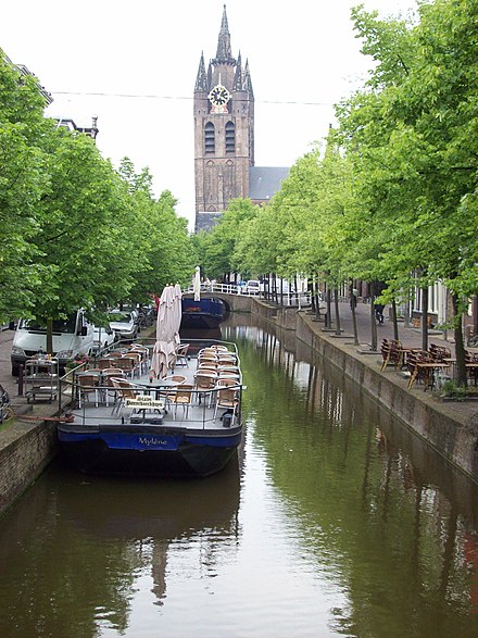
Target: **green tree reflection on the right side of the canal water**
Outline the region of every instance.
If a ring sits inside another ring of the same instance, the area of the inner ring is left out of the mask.
[[[340,371],[268,329],[241,328],[254,438],[317,570],[348,591],[331,626],[394,636],[408,618],[410,636],[475,635],[477,486]]]

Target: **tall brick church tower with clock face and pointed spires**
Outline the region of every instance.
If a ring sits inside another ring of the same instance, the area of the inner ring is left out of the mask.
[[[216,57],[201,54],[194,86],[196,233],[219,220],[229,201],[249,197],[254,165],[254,95],[249,63],[232,58],[224,5]]]

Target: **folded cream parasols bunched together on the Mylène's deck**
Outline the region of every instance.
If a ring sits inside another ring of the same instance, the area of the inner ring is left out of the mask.
[[[151,358],[151,375],[167,376],[168,368],[176,361],[181,323],[181,289],[179,285],[166,286],[158,307],[156,342]]]

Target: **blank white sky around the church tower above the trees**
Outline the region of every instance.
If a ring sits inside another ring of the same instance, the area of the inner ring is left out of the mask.
[[[369,60],[350,21],[358,3],[226,1],[232,55],[240,50],[242,62],[249,59],[256,166],[291,166],[327,135],[334,103],[360,86]],[[414,0],[363,3],[382,16],[415,7]],[[1,8],[0,48],[52,93],[47,114],[83,126],[98,115],[103,155],[115,166],[127,155],[137,172],[149,166],[155,195],[169,189],[191,229],[192,92],[201,51],[206,65],[215,57],[223,4],[4,0]]]

